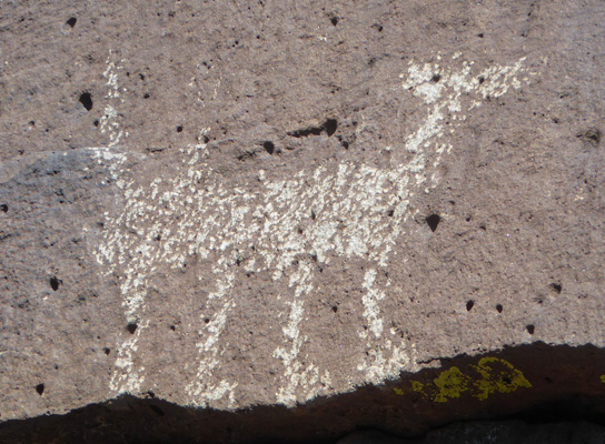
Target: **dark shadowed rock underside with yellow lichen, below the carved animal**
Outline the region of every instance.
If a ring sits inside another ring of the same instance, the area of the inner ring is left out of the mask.
[[[66,415],[0,425],[1,443],[334,443],[356,430],[403,437],[450,423],[516,420],[605,425],[605,350],[534,343],[440,361],[385,385],[286,408],[237,412],[120,396]]]

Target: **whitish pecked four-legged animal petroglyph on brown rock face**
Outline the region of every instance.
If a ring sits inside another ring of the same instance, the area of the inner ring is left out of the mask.
[[[336,256],[359,258],[369,265],[359,283],[368,324],[367,331],[359,332],[367,347],[358,364],[360,380],[380,382],[397,377],[401,370],[418,369],[415,345],[393,331],[385,333],[380,301],[393,289],[388,281],[377,286],[377,270],[389,264],[394,246],[405,234],[410,198],[436,186],[436,168],[454,148],[448,135],[463,124],[466,112],[487,95],[527,84],[529,77],[523,59],[483,70],[453,59],[439,61],[444,65],[410,62],[400,75],[401,88],[394,94],[401,100],[416,97],[426,115],[405,143],[390,147],[389,168],[347,160],[300,170],[287,180],[268,180],[259,173],[255,188],[228,186],[212,169],[206,144],[182,149],[181,163],[171,170],[177,171],[175,175],[151,179],[129,175],[122,168],[126,154],[97,150],[99,162],[109,165],[123,191],[125,206],[121,214],[106,221],[96,255],[108,273],[123,275],[120,291],[127,321],[147,325],[146,289],[159,268],[182,269],[194,255],[199,263],[211,264],[214,284],[207,289],[197,329],[199,364],[195,380],[185,386],[192,404],[206,406],[227,397],[228,406],[237,407],[236,391],[246,390],[238,381],[219,376],[226,346],[221,335],[237,310],[234,283],[244,272],[268,272],[289,289],[278,295],[289,311],[282,316],[281,343],[275,344],[272,353],[284,367],[275,401],[292,405],[329,390],[333,369],[320,369],[313,356],[301,360],[300,355],[309,337],[306,302],[318,292],[314,262],[329,264]],[[446,125],[446,117],[454,123]],[[119,140],[117,135],[112,144]],[[238,269],[240,263],[244,266]],[[118,350],[111,390],[140,390],[143,334],[145,329],[138,329]]]

